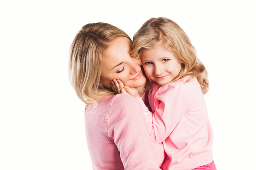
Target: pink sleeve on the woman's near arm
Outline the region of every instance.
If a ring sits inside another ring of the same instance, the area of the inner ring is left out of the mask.
[[[125,170],[160,170],[136,98],[128,94],[113,98],[107,133],[120,152]]]

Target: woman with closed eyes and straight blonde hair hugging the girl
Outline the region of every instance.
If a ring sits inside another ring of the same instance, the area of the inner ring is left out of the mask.
[[[87,104],[85,129],[93,170],[160,170],[163,161],[163,146],[151,143],[138,100],[111,90],[112,79],[131,88],[145,85],[141,63],[130,57],[130,48],[128,35],[107,23],[83,26],[70,48],[70,82]]]

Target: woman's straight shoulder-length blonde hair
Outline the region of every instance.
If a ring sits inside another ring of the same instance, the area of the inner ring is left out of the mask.
[[[69,79],[77,96],[86,104],[93,104],[108,94],[115,94],[101,82],[103,56],[117,37],[130,37],[108,23],[91,23],[76,34],[70,47]]]

